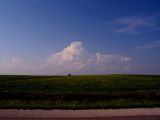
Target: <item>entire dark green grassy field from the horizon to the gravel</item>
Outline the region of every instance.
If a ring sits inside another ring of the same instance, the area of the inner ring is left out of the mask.
[[[160,107],[160,76],[0,76],[0,108]]]

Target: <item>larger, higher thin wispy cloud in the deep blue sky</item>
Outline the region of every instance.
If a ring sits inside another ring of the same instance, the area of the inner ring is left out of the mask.
[[[158,30],[160,15],[126,16],[113,21],[117,33],[140,33],[144,30]]]

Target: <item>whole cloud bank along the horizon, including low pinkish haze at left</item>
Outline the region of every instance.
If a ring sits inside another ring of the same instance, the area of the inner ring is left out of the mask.
[[[0,64],[2,74],[108,74],[126,73],[131,69],[132,58],[118,54],[90,54],[80,41],[46,58],[41,65],[25,64],[17,57]]]

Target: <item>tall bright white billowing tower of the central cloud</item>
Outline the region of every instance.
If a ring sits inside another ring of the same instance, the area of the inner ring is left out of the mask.
[[[56,64],[68,68],[83,68],[87,60],[87,52],[81,42],[72,42],[70,46],[61,52],[55,53],[48,58],[50,64]]]

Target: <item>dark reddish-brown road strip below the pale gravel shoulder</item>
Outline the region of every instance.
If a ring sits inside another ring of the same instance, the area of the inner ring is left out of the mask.
[[[159,115],[146,115],[146,116],[73,117],[73,118],[0,117],[0,120],[160,120],[160,116]]]

